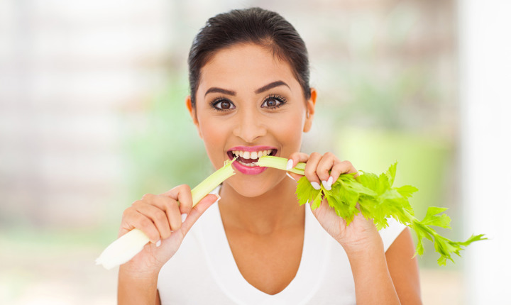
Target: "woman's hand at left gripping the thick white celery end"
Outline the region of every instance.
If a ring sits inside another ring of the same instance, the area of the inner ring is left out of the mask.
[[[188,185],[182,184],[163,194],[145,194],[133,202],[123,213],[119,237],[138,228],[148,235],[150,243],[121,266],[123,273],[158,274],[199,216],[219,198],[208,194],[192,207],[192,192]]]

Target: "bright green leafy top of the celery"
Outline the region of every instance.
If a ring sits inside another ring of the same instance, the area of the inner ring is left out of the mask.
[[[417,248],[415,255],[424,253],[424,238],[434,243],[434,248],[440,254],[439,265],[446,265],[447,260],[454,262],[452,254],[460,255],[464,247],[478,240],[485,240],[484,235],[472,235],[464,242],[455,242],[436,233],[432,226],[450,228],[451,218],[446,214],[445,208],[430,206],[422,221],[414,217],[414,211],[409,199],[417,192],[416,187],[405,185],[392,187],[394,184],[397,162],[379,176],[370,172],[363,172],[360,176],[354,174],[341,174],[331,190],[322,187],[317,190],[312,187],[306,177],[298,180],[297,197],[300,205],[312,202],[312,209],[317,209],[323,197],[328,201],[336,214],[344,218],[349,225],[353,217],[359,212],[368,219],[373,219],[378,230],[388,226],[388,218],[395,218],[400,223],[409,226],[417,234]],[[357,208],[358,203],[358,208]]]

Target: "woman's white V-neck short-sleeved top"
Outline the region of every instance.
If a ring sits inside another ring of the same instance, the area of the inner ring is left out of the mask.
[[[218,204],[213,204],[160,270],[161,304],[356,304],[355,284],[344,249],[324,231],[309,206],[305,211],[300,267],[282,292],[269,295],[246,282],[239,272]],[[385,251],[404,228],[389,218],[389,226],[380,231]]]

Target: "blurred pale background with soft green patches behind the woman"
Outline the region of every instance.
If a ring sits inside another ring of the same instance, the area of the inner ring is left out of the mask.
[[[511,8],[478,2],[0,0],[0,304],[116,302],[116,270],[94,259],[122,211],[212,170],[184,103],[192,39],[250,6],[307,43],[319,97],[304,152],[376,173],[398,161],[418,218],[445,206],[441,233],[492,238],[443,267],[427,242],[424,304],[495,303],[511,284]]]

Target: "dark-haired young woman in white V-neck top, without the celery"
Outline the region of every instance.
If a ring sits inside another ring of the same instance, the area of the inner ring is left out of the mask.
[[[214,167],[238,156],[236,174],[193,209],[187,185],[126,209],[119,235],[140,228],[152,243],[120,267],[119,303],[420,304],[407,228],[378,232],[363,216],[346,226],[326,201],[298,204],[297,174],[251,164],[306,162],[305,177],[326,189],[356,172],[332,153],[300,153],[317,92],[295,28],[263,9],[223,13],[188,62],[189,113]]]

